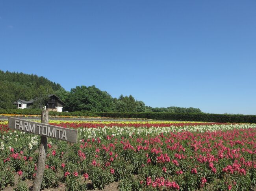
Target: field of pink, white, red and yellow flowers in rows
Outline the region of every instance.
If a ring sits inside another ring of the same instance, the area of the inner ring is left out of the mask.
[[[42,189],[246,191],[256,186],[256,124],[170,121],[50,121],[79,142],[48,139]],[[40,137],[0,122],[0,189],[26,190]],[[19,181],[15,184],[15,177]]]

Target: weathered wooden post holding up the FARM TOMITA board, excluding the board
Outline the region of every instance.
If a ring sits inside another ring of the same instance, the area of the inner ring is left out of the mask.
[[[42,111],[41,122],[48,124],[49,113],[46,110]],[[39,156],[37,162],[37,172],[35,175],[35,181],[33,185],[33,191],[40,191],[43,175],[45,171],[45,160],[47,151],[47,137],[41,136],[41,142],[39,147]]]

